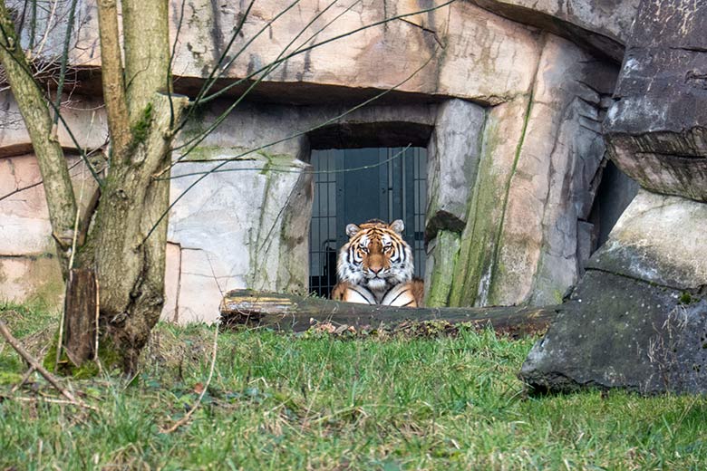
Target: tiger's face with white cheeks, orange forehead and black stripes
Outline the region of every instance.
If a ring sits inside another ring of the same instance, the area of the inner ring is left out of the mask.
[[[390,225],[373,219],[360,226],[346,226],[349,242],[339,251],[339,281],[358,284],[373,293],[412,280],[412,250],[402,239],[402,220]]]

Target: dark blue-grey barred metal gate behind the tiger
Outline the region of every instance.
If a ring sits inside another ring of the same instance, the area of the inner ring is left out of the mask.
[[[402,219],[415,274],[424,274],[427,149],[312,150],[315,197],[309,235],[310,292],[329,297],[347,224]]]

